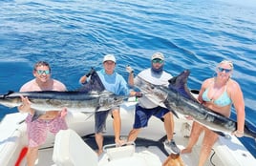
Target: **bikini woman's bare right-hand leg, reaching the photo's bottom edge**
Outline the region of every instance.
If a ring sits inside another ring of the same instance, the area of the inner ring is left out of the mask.
[[[203,137],[203,144],[201,148],[200,158],[199,158],[199,166],[203,166],[204,162],[208,158],[211,153],[212,146],[218,139],[218,135],[214,132],[210,131],[209,129],[204,129],[204,137]]]

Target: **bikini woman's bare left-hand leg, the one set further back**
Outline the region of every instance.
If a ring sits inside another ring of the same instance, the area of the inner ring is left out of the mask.
[[[194,145],[197,143],[199,136],[203,132],[203,126],[198,122],[193,122],[192,130],[188,140],[188,144],[185,149],[181,150],[181,154],[188,154],[192,152]]]

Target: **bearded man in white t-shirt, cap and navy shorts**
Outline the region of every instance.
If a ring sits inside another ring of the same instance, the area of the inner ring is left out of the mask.
[[[140,72],[137,77],[134,78],[134,71],[131,67],[126,67],[126,71],[129,73],[129,85],[138,86],[141,85],[141,80],[145,80],[154,85],[168,86],[168,80],[172,78],[172,75],[164,72],[163,66],[164,56],[161,52],[156,52],[151,57],[151,68]],[[173,139],[173,114],[168,109],[161,107],[160,102],[154,100],[150,94],[146,93],[139,98],[139,102],[136,105],[134,127],[128,135],[128,141],[135,141],[140,129],[146,127],[150,117],[155,115],[161,120],[163,119],[164,122],[164,129],[167,135],[167,139],[163,142],[165,149],[173,154],[180,154],[180,149]]]

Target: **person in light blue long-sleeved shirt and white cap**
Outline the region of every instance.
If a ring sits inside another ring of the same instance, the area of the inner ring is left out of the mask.
[[[105,89],[111,93],[121,94],[121,95],[135,95],[136,92],[130,92],[127,82],[125,79],[115,72],[116,67],[116,57],[113,54],[106,54],[103,58],[103,67],[104,69],[97,71],[102,84]],[[83,75],[79,82],[84,84],[86,82],[87,77],[90,74]],[[108,114],[111,112],[114,121],[113,128],[115,133],[115,142],[118,145],[121,145],[123,142],[120,140],[120,128],[121,128],[121,120],[119,114],[119,107],[114,107],[106,112],[96,112],[95,120],[96,120],[96,144],[98,147],[97,154],[100,155],[103,152],[103,133],[106,132],[106,119]]]

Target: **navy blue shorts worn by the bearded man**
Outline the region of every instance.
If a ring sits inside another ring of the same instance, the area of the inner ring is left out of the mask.
[[[162,116],[169,112],[170,111],[168,109],[162,108],[160,106],[153,109],[145,109],[140,107],[139,104],[137,104],[135,109],[134,129],[146,127],[148,124],[148,120],[152,115],[155,115],[156,117],[162,120]]]

